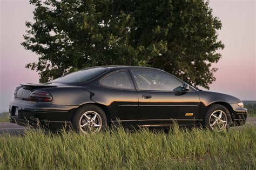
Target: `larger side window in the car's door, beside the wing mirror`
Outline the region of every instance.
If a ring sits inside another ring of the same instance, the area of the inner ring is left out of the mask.
[[[182,91],[183,83],[169,74],[151,70],[132,70],[138,90]]]

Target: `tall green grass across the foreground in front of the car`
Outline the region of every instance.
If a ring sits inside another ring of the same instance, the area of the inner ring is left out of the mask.
[[[256,131],[214,133],[174,126],[169,133],[123,128],[97,134],[0,137],[1,169],[255,169]]]

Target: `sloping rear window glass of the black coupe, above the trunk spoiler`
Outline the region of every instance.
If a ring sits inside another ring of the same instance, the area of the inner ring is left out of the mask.
[[[94,68],[79,70],[76,72],[66,74],[65,76],[57,78],[55,80],[52,80],[52,82],[55,82],[55,83],[81,83],[81,82],[85,82],[90,79],[93,79],[93,78],[99,76],[100,74],[103,74],[107,70],[108,69],[106,69],[104,67],[94,67]]]

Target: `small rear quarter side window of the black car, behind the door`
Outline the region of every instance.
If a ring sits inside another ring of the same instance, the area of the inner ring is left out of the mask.
[[[129,76],[130,75],[127,71],[119,71],[117,73],[110,74],[100,83],[103,86],[117,89],[134,89]]]

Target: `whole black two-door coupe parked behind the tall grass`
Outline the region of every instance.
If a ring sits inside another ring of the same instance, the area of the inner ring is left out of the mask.
[[[202,125],[223,131],[245,124],[242,101],[197,90],[163,70],[137,66],[98,66],[44,84],[21,84],[9,106],[10,122],[39,123],[78,132],[124,127]]]

